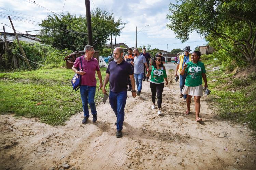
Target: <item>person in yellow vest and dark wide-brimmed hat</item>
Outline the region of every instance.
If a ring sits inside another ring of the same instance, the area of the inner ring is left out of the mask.
[[[178,62],[177,62],[177,67],[176,67],[176,73],[175,76],[178,75],[178,71],[179,73],[181,73],[181,70],[183,69],[184,63],[187,64],[188,62],[191,62],[191,54],[189,54],[190,50],[190,46],[186,46],[184,49],[184,54],[179,56]],[[187,77],[187,73],[185,72],[184,75],[180,75],[180,91],[182,91],[184,85],[185,85],[185,80]],[[182,93],[180,94],[180,98],[184,98],[184,102],[187,101],[187,95],[183,95]]]

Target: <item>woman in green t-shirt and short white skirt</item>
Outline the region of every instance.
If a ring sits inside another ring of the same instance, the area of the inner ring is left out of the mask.
[[[192,96],[194,96],[197,122],[202,121],[199,117],[201,107],[200,98],[203,96],[202,78],[204,81],[204,87],[207,87],[206,71],[204,64],[199,61],[200,56],[201,52],[194,51],[191,55],[191,62],[188,62],[187,64],[184,63],[183,69],[181,70],[181,75],[184,75],[185,72],[187,72],[185,86],[182,89],[182,94],[187,95],[187,111],[185,114],[190,113],[190,102]]]

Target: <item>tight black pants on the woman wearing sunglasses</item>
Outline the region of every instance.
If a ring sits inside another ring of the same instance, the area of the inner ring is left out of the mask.
[[[155,103],[156,96],[157,96],[158,108],[161,108],[161,105],[162,105],[163,84],[164,83],[156,84],[156,83],[150,82],[152,103]]]

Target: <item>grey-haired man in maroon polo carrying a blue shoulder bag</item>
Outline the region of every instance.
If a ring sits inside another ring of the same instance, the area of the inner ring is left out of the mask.
[[[81,69],[81,63],[80,63],[80,57],[76,58],[74,66],[72,67],[73,71],[77,74],[82,75],[82,81],[80,85],[80,94],[83,104],[83,110],[84,110],[84,119],[82,120],[82,123],[85,124],[89,118],[89,109],[88,109],[88,103],[91,108],[91,114],[93,115],[93,122],[97,121],[97,111],[96,106],[94,102],[94,96],[96,91],[96,78],[95,78],[95,71],[98,74],[98,78],[100,80],[100,88],[102,88],[102,77],[99,67],[99,62],[96,58],[93,57],[94,54],[94,47],[86,45],[84,47],[85,55],[81,56],[82,59],[82,70],[77,70],[78,68]]]

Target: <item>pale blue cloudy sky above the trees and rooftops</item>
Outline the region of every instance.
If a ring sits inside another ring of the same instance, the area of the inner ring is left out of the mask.
[[[48,10],[55,13],[61,13],[65,0],[35,0],[35,2]],[[90,8],[94,10],[96,7],[112,11],[116,19],[122,19],[126,22],[125,28],[119,37],[116,38],[117,43],[126,43],[129,47],[135,46],[135,27],[137,32],[144,27],[137,35],[137,47],[148,44],[151,48],[158,48],[166,50],[168,44],[168,51],[174,48],[183,49],[189,45],[191,50],[197,46],[206,44],[204,39],[200,38],[197,33],[192,33],[186,43],[181,43],[181,40],[175,38],[172,30],[166,29],[166,15],[169,14],[169,3],[177,3],[173,0],[90,0]],[[11,11],[15,11],[11,12]],[[18,16],[21,18],[35,21],[34,24],[25,22],[26,20],[13,20],[15,29],[19,32],[40,29],[36,22],[51,14],[42,7],[33,3],[33,0],[0,0],[0,23],[11,26],[9,15]],[[85,1],[84,0],[66,0],[63,12],[70,12],[76,15],[85,15]],[[4,14],[5,13],[5,14]],[[11,18],[15,18],[12,17]],[[23,20],[23,21],[21,21]],[[3,31],[3,24],[0,24],[0,31]],[[6,32],[13,32],[10,27],[5,26]],[[36,32],[31,32],[35,34]]]

